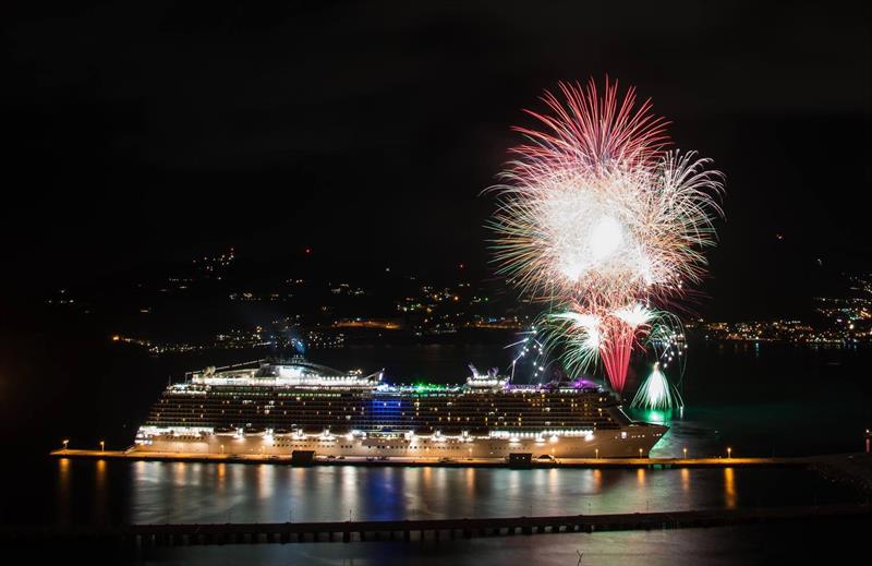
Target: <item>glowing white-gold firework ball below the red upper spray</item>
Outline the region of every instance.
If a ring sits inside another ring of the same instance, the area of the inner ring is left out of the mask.
[[[680,292],[702,277],[722,214],[707,162],[670,152],[654,170],[556,171],[504,186],[491,222],[499,272],[534,299]]]

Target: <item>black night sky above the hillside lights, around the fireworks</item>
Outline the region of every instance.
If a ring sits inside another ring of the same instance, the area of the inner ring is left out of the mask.
[[[727,176],[701,311],[789,310],[820,270],[872,268],[868,4],[66,4],[1,24],[4,287],[229,243],[264,269],[312,246],[484,276],[509,127],[606,73]]]

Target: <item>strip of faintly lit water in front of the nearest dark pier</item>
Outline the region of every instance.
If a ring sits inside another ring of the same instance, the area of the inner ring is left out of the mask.
[[[482,566],[699,566],[700,564],[847,564],[863,540],[856,523],[798,522],[743,527],[494,537],[471,540],[336,544],[230,544],[146,551],[149,564]],[[797,541],[804,541],[797,544]],[[132,561],[134,562],[134,561]],[[142,564],[143,561],[135,561]]]

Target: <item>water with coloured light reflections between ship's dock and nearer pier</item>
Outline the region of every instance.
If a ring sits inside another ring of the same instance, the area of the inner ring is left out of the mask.
[[[853,492],[812,472],[789,468],[294,468],[65,459],[56,463],[55,520],[97,523],[608,514],[856,498]]]

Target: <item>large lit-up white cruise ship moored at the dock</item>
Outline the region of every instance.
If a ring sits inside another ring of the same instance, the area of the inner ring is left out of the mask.
[[[302,358],[208,368],[171,384],[134,451],[384,460],[647,456],[667,427],[634,422],[586,381],[516,385],[496,370],[460,385],[389,385]]]

